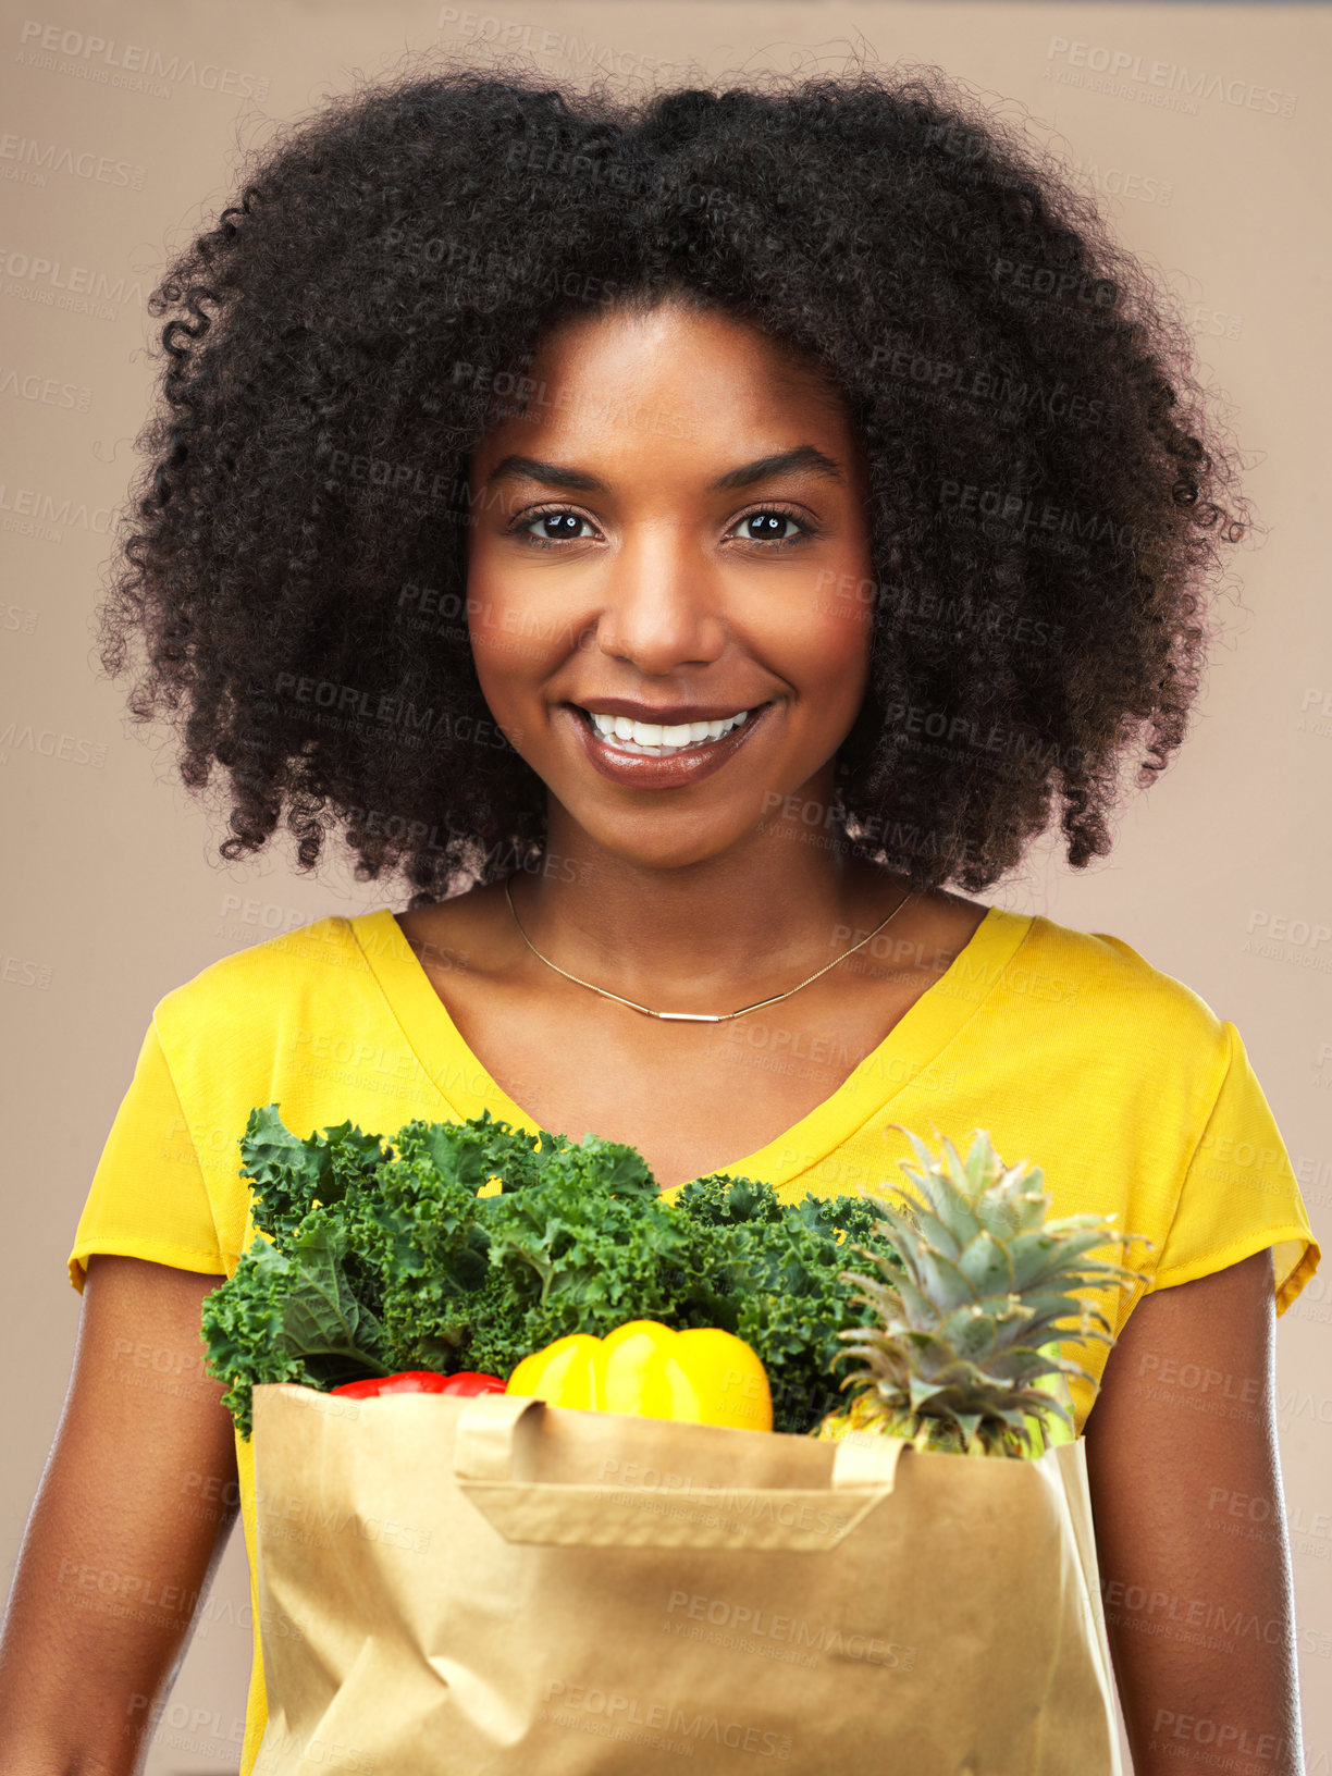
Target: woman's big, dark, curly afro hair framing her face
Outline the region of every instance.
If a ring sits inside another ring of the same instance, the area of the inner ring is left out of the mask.
[[[868,465],[863,707],[824,844],[968,893],[1051,821],[1110,851],[1154,780],[1249,527],[1172,302],[1050,149],[940,69],[627,98],[444,60],[284,126],[149,298],[101,662],[146,668],[181,778],[229,776],[234,861],[286,808],[410,908],[531,868],[545,787],[488,719],[465,622],[467,462],[540,337],[673,295],[817,366]]]

